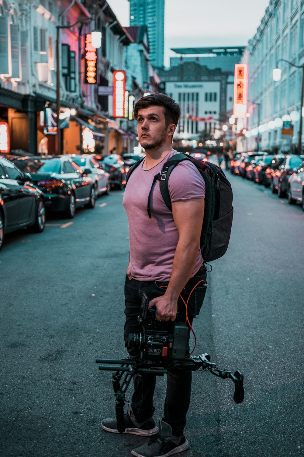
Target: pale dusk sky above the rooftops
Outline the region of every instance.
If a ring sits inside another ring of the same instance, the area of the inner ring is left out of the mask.
[[[124,27],[129,1],[108,0]],[[269,0],[165,0],[165,66],[176,56],[170,48],[245,46],[259,26]]]

